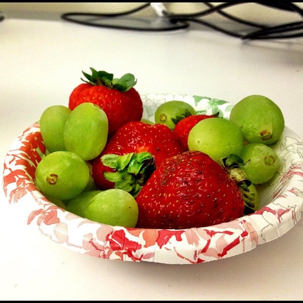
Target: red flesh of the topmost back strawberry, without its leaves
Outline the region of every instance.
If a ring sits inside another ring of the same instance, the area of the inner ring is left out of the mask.
[[[133,87],[121,92],[102,85],[82,83],[71,92],[68,106],[73,110],[84,102],[96,104],[105,111],[109,121],[109,136],[128,122],[141,120],[143,114],[141,97]]]

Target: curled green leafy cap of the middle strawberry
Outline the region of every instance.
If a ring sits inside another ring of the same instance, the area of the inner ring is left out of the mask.
[[[123,156],[107,154],[100,161],[115,172],[105,172],[104,177],[114,182],[114,188],[123,189],[136,197],[147,179],[156,169],[154,157],[147,152]]]

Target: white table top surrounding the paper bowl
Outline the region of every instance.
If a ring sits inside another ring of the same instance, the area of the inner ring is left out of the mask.
[[[303,39],[243,42],[210,30],[146,33],[66,21],[0,23],[1,158],[51,105],[67,105],[81,71],[130,72],[142,93],[263,94],[303,137]],[[1,175],[2,181],[2,175]],[[303,299],[303,220],[245,254],[194,265],[119,262],[71,251],[18,220],[1,190],[2,300]]]

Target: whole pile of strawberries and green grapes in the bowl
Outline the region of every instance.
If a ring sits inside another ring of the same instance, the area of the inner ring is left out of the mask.
[[[142,119],[132,74],[91,72],[68,107],[49,107],[39,120],[48,153],[35,182],[49,200],[96,222],[138,228],[210,226],[258,209],[255,185],[280,165],[271,144],[284,118],[272,100],[245,97],[229,119],[171,100],[152,123]]]

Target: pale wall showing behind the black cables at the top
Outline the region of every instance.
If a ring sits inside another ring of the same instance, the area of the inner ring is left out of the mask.
[[[123,12],[139,7],[145,3],[0,3],[0,11],[7,18],[35,18],[35,19],[60,19],[62,13],[67,12],[92,12],[113,13]],[[212,3],[218,5],[220,3]],[[294,3],[303,9],[303,3]],[[169,12],[193,13],[206,8],[203,3],[164,3]],[[245,20],[259,21],[264,24],[282,24],[286,22],[300,21],[301,17],[295,13],[288,13],[256,3],[244,3],[226,10],[226,12],[241,17]],[[137,15],[156,15],[151,8],[144,9]],[[217,14],[209,18],[219,18]],[[218,19],[222,20],[222,19]]]

